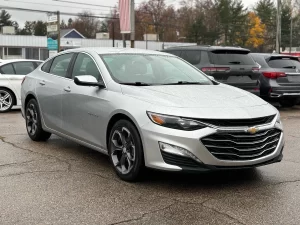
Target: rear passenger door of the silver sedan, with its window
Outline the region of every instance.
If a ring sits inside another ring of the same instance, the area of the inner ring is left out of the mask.
[[[67,78],[69,65],[74,53],[56,56],[46,62],[40,76],[36,76],[36,95],[45,125],[61,132],[62,94],[70,79]]]

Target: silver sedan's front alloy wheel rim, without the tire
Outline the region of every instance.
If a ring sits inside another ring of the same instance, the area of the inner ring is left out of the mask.
[[[132,134],[126,127],[115,130],[111,136],[111,158],[116,169],[128,174],[134,167],[136,148]]]

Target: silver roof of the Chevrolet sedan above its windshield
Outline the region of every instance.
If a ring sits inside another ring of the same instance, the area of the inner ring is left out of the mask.
[[[153,50],[146,50],[146,49],[139,49],[139,48],[107,48],[107,47],[90,47],[90,48],[76,48],[71,50],[66,50],[61,52],[94,52],[99,55],[104,54],[154,54],[154,55],[169,55],[174,56],[165,52],[160,51],[153,51]]]

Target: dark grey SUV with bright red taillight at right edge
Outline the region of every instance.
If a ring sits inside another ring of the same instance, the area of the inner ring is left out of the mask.
[[[260,95],[267,101],[280,102],[282,106],[292,107],[300,99],[300,62],[298,57],[251,53],[261,65]]]

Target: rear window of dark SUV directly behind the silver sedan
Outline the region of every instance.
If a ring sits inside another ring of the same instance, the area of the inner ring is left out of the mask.
[[[255,65],[248,51],[216,50],[209,55],[211,63],[217,65]]]

